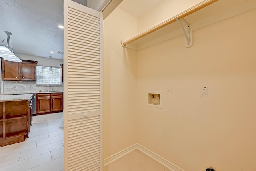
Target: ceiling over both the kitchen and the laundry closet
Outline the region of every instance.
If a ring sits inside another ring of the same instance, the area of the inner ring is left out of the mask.
[[[87,6],[87,0],[73,1]],[[124,0],[119,7],[139,17],[162,1]],[[0,41],[7,38],[4,31],[12,32],[15,54],[63,59],[56,53],[64,51],[63,29],[58,25],[63,25],[63,0],[0,0]]]

